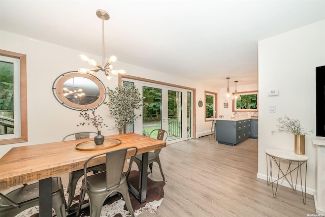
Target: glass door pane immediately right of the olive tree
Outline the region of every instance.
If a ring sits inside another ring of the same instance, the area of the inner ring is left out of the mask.
[[[162,129],[161,126],[161,93],[160,88],[142,87],[143,100],[142,109],[142,134],[149,136],[155,129]]]

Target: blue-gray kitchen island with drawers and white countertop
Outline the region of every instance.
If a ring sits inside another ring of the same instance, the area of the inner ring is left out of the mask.
[[[216,140],[219,144],[236,145],[245,139],[252,137],[252,119],[222,119],[215,121]],[[257,135],[255,136],[257,138]]]

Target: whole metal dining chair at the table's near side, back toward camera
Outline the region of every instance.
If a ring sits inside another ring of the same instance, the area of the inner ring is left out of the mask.
[[[123,173],[123,167],[126,160],[127,151],[133,151],[126,173]],[[82,180],[79,206],[76,216],[79,216],[85,194],[89,198],[90,216],[99,217],[102,206],[106,198],[120,193],[126,204],[126,208],[134,216],[134,210],[128,193],[127,176],[131,170],[135,155],[138,153],[137,147],[126,147],[104,153],[95,154],[87,159],[84,165],[84,179]],[[87,176],[87,164],[94,158],[105,156],[106,171]]]

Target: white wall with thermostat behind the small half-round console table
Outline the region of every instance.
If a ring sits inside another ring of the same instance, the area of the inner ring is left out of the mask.
[[[274,133],[277,118],[299,119],[314,133],[306,136],[307,193],[315,189],[315,68],[325,65],[325,20],[258,42],[258,174],[266,179],[268,148],[294,150],[294,136]],[[279,89],[279,96],[268,97],[268,89]],[[269,105],[276,113],[269,113]]]

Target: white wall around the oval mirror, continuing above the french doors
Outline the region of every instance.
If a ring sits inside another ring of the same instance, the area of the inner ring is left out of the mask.
[[[87,64],[79,59],[79,54],[85,54],[93,59],[101,59],[101,56],[84,53],[82,51],[41,42],[27,37],[16,35],[0,29],[0,49],[23,53],[27,55],[27,119],[28,119],[28,142],[0,146],[0,157],[12,147],[40,144],[60,141],[65,135],[78,131],[94,131],[92,126],[77,127],[82,118],[79,112],[60,105],[52,94],[53,81],[62,73],[76,71]],[[82,50],[82,48],[80,48]],[[109,53],[109,51],[107,52]],[[216,91],[219,87],[205,87],[193,81],[156,72],[142,67],[122,63],[114,63],[116,69],[126,70],[128,75],[143,77],[162,82],[168,82],[197,89],[198,99],[204,99],[204,90]],[[118,84],[117,77],[113,81],[106,80],[104,73],[96,73],[105,86],[115,88]],[[186,85],[184,85],[186,84]],[[205,89],[208,88],[208,89]],[[210,125],[204,123],[204,111],[197,108],[197,132],[207,131]],[[108,117],[108,108],[101,105],[97,110],[105,118],[105,122],[114,126],[113,119]],[[103,135],[117,134],[116,130],[102,129]],[[1,139],[1,136],[0,136]]]

